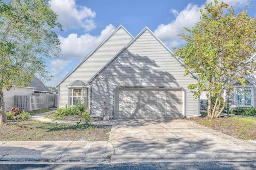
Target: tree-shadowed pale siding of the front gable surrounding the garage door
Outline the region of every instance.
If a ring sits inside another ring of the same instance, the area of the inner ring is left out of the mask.
[[[183,88],[185,115],[198,115],[198,100],[187,87],[196,83],[192,75],[183,76],[184,68],[169,51],[146,30],[92,81],[92,113],[104,113],[103,102],[113,113],[113,92],[116,87]],[[104,96],[109,92],[109,96]]]

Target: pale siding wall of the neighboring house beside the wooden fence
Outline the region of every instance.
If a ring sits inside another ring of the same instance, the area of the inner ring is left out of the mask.
[[[3,90],[4,92],[4,102],[5,102],[5,110],[8,112],[12,107],[14,107],[14,96],[19,95],[32,95],[32,88],[14,88],[9,91]]]

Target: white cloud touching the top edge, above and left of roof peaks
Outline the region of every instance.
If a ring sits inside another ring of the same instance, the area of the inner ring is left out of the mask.
[[[96,13],[86,6],[76,5],[75,0],[52,0],[50,2],[52,10],[58,14],[58,22],[64,28],[84,28],[90,31],[96,27],[94,18]]]

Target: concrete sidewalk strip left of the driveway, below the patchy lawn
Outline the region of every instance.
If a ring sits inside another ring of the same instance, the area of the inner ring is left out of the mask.
[[[86,141],[0,141],[0,163],[16,162],[88,162],[109,163],[110,142]]]

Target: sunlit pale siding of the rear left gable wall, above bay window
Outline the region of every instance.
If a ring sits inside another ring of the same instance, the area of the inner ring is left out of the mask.
[[[100,48],[84,61],[59,86],[59,108],[68,104],[68,88],[66,86],[75,80],[88,82],[104,65],[106,65],[132,37],[121,27]]]

